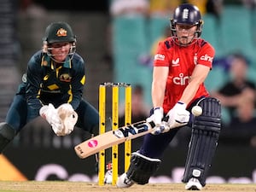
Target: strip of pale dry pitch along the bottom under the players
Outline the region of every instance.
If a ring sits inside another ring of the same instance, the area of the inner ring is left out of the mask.
[[[112,185],[98,186],[96,183],[60,181],[0,181],[0,192],[186,192],[183,183],[133,185],[129,189],[118,189]],[[207,184],[202,189],[207,192],[255,192],[256,184]]]

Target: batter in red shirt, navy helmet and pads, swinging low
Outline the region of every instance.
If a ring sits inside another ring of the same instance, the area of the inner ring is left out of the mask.
[[[215,50],[200,38],[203,21],[197,7],[185,3],[175,9],[172,37],[158,45],[154,55],[152,115],[158,130],[144,137],[143,145],[131,155],[131,165],[118,181],[119,188],[146,184],[160,166],[161,157],[183,125],[191,127],[189,151],[183,174],[185,189],[201,190],[218,143],[221,107],[209,96],[204,81],[212,69]],[[200,116],[190,114],[199,105]],[[168,126],[161,127],[162,119]],[[190,119],[190,121],[189,121]],[[175,158],[175,154],[169,154]]]

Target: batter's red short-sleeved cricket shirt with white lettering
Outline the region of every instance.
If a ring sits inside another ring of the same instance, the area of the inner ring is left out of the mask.
[[[195,43],[189,46],[180,46],[174,42],[173,38],[166,38],[159,43],[154,55],[154,67],[169,67],[163,104],[165,113],[173,108],[181,98],[183,90],[189,84],[195,65],[200,64],[212,68],[214,55],[215,50],[212,45],[202,38],[195,40]],[[209,96],[203,83],[200,84],[191,102],[201,96]]]

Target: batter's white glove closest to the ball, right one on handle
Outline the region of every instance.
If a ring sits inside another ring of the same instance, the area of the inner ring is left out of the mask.
[[[166,114],[169,127],[175,128],[189,123],[189,111],[186,110],[186,104],[177,102],[175,106]]]

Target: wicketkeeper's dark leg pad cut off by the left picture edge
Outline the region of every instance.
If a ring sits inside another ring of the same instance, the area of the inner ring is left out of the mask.
[[[0,124],[0,154],[3,152],[3,149],[10,143],[16,135],[15,129],[7,123]]]

